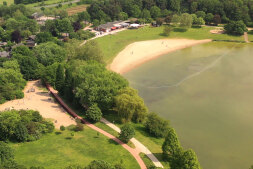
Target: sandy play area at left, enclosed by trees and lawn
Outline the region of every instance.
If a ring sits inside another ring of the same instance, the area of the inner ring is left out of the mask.
[[[0,105],[0,111],[13,108],[16,110],[30,109],[37,110],[44,118],[52,119],[57,129],[61,125],[69,126],[76,124],[75,120],[70,117],[67,112],[54,101],[47,91],[41,90],[40,81],[30,81],[24,89],[25,97],[23,99],[8,101]],[[35,89],[35,92],[27,92],[31,88]]]

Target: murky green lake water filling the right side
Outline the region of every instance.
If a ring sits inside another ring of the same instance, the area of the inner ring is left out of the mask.
[[[204,169],[253,165],[253,45],[212,42],[124,75]]]

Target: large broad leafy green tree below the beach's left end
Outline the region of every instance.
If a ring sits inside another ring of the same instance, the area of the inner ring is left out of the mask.
[[[97,103],[102,111],[112,108],[114,96],[128,85],[120,75],[108,71],[97,62],[80,66],[76,71],[73,75],[76,76],[75,97],[81,105]]]

